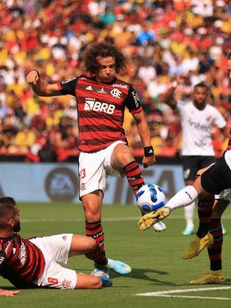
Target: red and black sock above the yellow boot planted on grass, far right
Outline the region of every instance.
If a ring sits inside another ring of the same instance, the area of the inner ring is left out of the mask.
[[[209,232],[214,237],[213,245],[207,247],[210,269],[212,271],[219,271],[219,269],[222,269],[221,249],[223,244],[223,232],[220,219],[211,219]]]

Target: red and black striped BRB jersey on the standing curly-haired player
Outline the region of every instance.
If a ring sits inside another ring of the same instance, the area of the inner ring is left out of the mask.
[[[80,76],[58,83],[62,94],[76,97],[79,122],[79,149],[96,152],[115,141],[125,141],[124,109],[141,112],[142,106],[131,84],[114,78],[99,83],[95,78]]]

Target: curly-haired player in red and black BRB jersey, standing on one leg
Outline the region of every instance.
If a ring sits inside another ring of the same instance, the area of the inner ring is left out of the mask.
[[[129,265],[106,258],[101,211],[107,175],[127,176],[134,192],[144,185],[141,169],[128,147],[123,129],[128,108],[137,123],[144,146],[144,168],[155,163],[150,132],[142,106],[132,85],[118,79],[127,65],[126,56],[112,44],[90,44],[83,53],[83,65],[91,76],[76,76],[57,84],[47,84],[36,70],[26,80],[41,96],[71,94],[76,98],[79,124],[80,199],[85,211],[86,235],[95,238],[101,250],[94,255],[97,269],[119,274],[131,271]],[[97,273],[96,273],[97,274]]]

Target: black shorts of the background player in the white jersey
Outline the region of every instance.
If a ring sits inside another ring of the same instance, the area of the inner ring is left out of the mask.
[[[197,171],[216,163],[214,156],[182,156],[182,165],[185,181],[194,181]]]

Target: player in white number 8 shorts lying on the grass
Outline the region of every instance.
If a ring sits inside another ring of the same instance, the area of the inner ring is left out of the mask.
[[[111,286],[107,276],[76,273],[57,262],[72,256],[97,253],[99,245],[91,237],[60,234],[22,239],[19,209],[13,198],[0,198],[0,275],[17,288],[53,287],[59,289],[98,289]],[[19,291],[0,289],[0,295]]]

